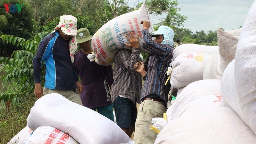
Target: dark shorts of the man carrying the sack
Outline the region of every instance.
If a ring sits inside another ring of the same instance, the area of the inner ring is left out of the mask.
[[[137,107],[129,98],[117,96],[113,102],[116,123],[120,128],[135,126],[137,118]]]

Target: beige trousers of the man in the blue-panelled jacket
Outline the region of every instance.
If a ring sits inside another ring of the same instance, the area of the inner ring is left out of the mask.
[[[43,87],[43,95],[52,94],[52,93],[60,94],[74,103],[83,105],[80,95],[76,93],[74,90],[55,90],[55,89],[48,89],[46,87]]]

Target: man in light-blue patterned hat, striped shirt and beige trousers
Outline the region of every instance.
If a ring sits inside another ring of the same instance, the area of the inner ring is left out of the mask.
[[[144,70],[144,64],[136,63],[135,69],[145,80],[141,92],[141,104],[139,107],[134,133],[136,144],[153,144],[157,133],[150,130],[151,119],[163,117],[167,110],[168,93],[170,82],[165,85],[168,76],[165,75],[169,63],[173,57],[174,50],[174,31],[167,26],[160,26],[155,32],[149,33],[150,23],[142,21],[142,46],[147,49],[152,56],[148,62],[148,72]],[[155,37],[155,41],[152,39]]]

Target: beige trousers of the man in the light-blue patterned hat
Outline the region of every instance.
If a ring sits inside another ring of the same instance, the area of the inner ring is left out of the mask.
[[[135,144],[154,144],[157,133],[150,129],[151,119],[163,117],[167,108],[162,102],[145,100],[140,104],[137,119],[135,122],[135,132],[133,141]]]

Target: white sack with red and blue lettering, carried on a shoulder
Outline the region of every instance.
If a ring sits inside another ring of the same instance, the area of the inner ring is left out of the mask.
[[[119,49],[130,49],[124,43],[129,43],[125,34],[140,33],[143,30],[141,21],[151,21],[148,9],[143,3],[141,7],[133,12],[122,14],[105,23],[92,38],[92,48],[96,55],[96,62],[100,65],[111,65],[114,62],[114,57]],[[149,28],[149,32],[153,31],[153,26]],[[140,36],[141,37],[141,36]],[[148,50],[142,48],[142,41],[139,39],[141,52],[149,53]]]

